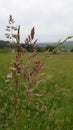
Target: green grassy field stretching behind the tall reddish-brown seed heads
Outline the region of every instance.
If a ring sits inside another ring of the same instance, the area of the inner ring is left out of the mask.
[[[5,76],[13,57],[10,53],[0,53],[0,88],[5,87]],[[18,130],[73,130],[73,53],[49,56],[46,52],[37,56],[39,59],[45,57],[44,82],[39,86],[44,105],[40,103],[37,113],[31,109],[30,120],[24,112]]]

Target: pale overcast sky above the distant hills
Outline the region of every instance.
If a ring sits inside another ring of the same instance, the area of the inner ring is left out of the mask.
[[[21,41],[35,27],[39,42],[54,42],[73,35],[73,0],[0,0],[0,39],[12,14],[21,26]]]

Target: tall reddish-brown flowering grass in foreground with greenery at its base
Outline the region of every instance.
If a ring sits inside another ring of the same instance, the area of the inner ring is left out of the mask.
[[[46,110],[44,102],[41,100],[42,93],[38,93],[38,87],[42,80],[42,73],[39,78],[39,71],[43,67],[43,61],[38,60],[37,55],[37,39],[34,40],[35,29],[31,29],[30,35],[25,40],[26,46],[33,43],[33,53],[29,54],[20,44],[20,27],[18,29],[12,24],[14,19],[12,15],[9,17],[7,31],[17,31],[17,34],[6,34],[6,37],[12,39],[12,44],[16,44],[18,51],[14,53],[15,58],[12,61],[9,73],[5,80],[6,87],[0,90],[1,103],[0,109],[0,129],[1,130],[24,130],[31,121],[32,114],[37,114],[40,111]],[[16,43],[13,42],[16,39]],[[24,60],[23,60],[24,57]],[[4,98],[4,100],[3,100]],[[26,119],[25,119],[26,118]],[[22,122],[23,119],[23,123]],[[26,120],[26,121],[25,121]],[[21,126],[21,128],[20,128]],[[28,127],[28,129],[30,129]]]

